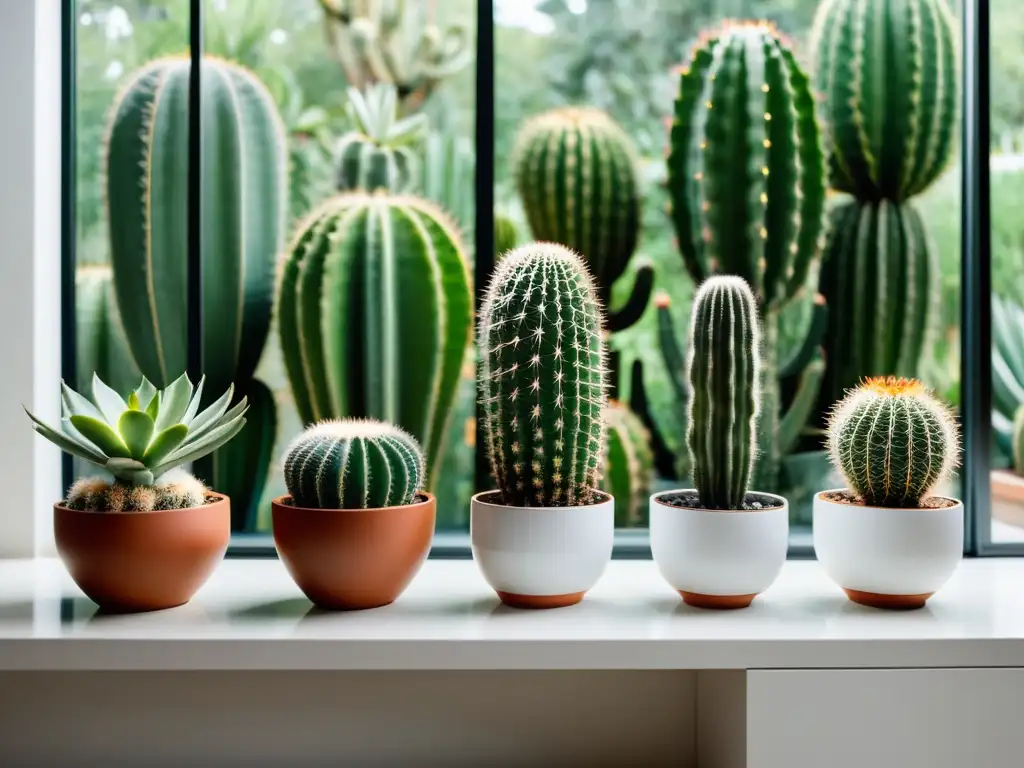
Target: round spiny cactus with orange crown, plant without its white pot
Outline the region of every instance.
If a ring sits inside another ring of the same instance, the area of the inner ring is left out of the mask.
[[[828,450],[869,507],[919,507],[956,466],[956,422],[915,379],[866,379],[837,403]]]

